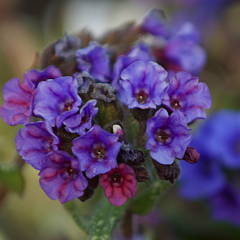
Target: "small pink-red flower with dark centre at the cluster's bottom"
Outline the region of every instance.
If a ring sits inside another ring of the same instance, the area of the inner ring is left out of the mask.
[[[122,163],[100,177],[100,185],[108,200],[115,206],[123,205],[137,192],[137,180],[131,167]]]

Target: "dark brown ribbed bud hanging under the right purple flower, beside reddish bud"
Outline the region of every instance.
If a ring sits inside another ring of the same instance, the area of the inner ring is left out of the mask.
[[[180,175],[180,168],[176,162],[171,165],[160,164],[153,160],[160,179],[175,183]]]

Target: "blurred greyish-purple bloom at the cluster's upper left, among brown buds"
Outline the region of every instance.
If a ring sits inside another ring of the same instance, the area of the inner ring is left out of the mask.
[[[62,58],[74,57],[80,45],[81,40],[78,37],[65,34],[54,45],[55,55]]]

